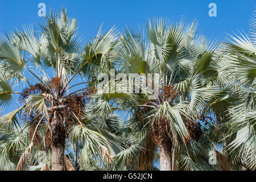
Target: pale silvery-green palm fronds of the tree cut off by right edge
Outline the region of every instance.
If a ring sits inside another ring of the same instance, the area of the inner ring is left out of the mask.
[[[234,92],[239,92],[237,103],[228,107],[229,127],[228,137],[230,143],[226,150],[236,151],[233,163],[238,163],[246,169],[256,168],[256,44],[255,44],[255,14],[251,18],[251,35],[232,36],[225,44],[227,62],[233,74]]]

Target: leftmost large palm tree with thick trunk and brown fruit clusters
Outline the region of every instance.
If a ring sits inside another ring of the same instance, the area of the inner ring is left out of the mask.
[[[13,104],[17,95],[21,106],[2,115],[0,126],[6,132],[18,133],[18,138],[27,131],[27,126],[30,128],[27,132],[31,143],[19,159],[17,170],[24,169],[33,146],[40,148],[42,143],[46,151],[51,149],[51,169],[64,170],[65,143],[70,130],[76,125],[85,128],[81,121],[86,102],[95,92],[91,84],[95,72],[103,66],[114,67],[119,40],[113,28],[104,35],[100,29],[82,51],[76,19],[68,18],[64,9],[60,14],[51,11],[40,27],[40,34],[28,26],[1,38],[0,106]],[[77,84],[77,78],[82,82]],[[106,141],[94,131],[83,131],[98,144]]]

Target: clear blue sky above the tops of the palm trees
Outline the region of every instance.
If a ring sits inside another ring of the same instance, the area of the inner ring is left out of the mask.
[[[79,35],[84,40],[95,36],[101,23],[105,31],[114,25],[123,30],[126,25],[137,28],[154,16],[176,19],[181,15],[188,20],[197,19],[200,32],[208,38],[223,38],[226,32],[247,31],[256,5],[254,0],[0,0],[0,32],[13,31],[22,24],[43,23],[38,16],[40,2],[46,4],[47,14],[49,7],[55,10],[67,7],[68,15],[77,19]],[[211,2],[217,5],[217,17],[208,15]]]

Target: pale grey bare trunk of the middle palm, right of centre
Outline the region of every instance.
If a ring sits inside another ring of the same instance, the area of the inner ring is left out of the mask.
[[[171,171],[171,152],[164,147],[163,144],[159,145],[160,149],[160,171]]]

